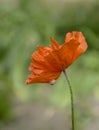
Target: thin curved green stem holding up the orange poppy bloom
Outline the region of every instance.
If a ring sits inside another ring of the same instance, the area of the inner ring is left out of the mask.
[[[70,80],[68,78],[68,75],[66,73],[66,71],[64,70],[64,75],[66,77],[66,80],[67,80],[67,83],[68,83],[68,86],[69,86],[69,90],[70,90],[70,96],[71,96],[71,118],[72,118],[72,130],[75,129],[74,127],[74,99],[73,99],[73,91],[72,91],[72,87],[71,87],[71,83],[70,83]]]

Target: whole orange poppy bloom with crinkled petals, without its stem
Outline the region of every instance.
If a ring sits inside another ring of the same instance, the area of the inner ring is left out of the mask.
[[[87,49],[86,40],[81,32],[67,33],[65,42],[59,45],[50,38],[49,47],[39,46],[31,56],[29,70],[32,73],[26,80],[31,83],[54,83],[61,72],[67,69]]]

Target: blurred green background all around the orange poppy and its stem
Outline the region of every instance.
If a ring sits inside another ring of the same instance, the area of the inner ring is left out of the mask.
[[[76,127],[89,130],[92,122],[94,128],[93,120],[99,121],[99,1],[0,0],[0,127],[3,130],[12,130],[9,124],[19,118],[16,109],[27,112],[30,104],[30,113],[35,104],[39,105],[37,108],[44,105],[44,110],[51,107],[65,112],[64,117],[70,122],[70,97],[63,74],[53,86],[27,86],[25,80],[29,74],[30,55],[36,47],[48,46],[50,37],[61,44],[65,34],[73,30],[82,31],[89,46],[68,68],[75,97]],[[21,110],[20,105],[24,106]],[[36,108],[34,110],[35,113]],[[56,125],[62,121],[60,117]],[[35,128],[32,126],[30,130],[58,130],[52,124],[46,128],[39,126],[39,118]],[[65,121],[62,130],[64,124]],[[99,129],[99,125],[97,127]],[[15,128],[14,124],[13,130]],[[24,123],[18,128],[22,129],[25,130]]]

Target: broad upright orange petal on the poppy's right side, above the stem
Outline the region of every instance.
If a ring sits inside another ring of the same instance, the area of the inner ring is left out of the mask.
[[[81,32],[72,32],[66,34],[65,43],[59,50],[63,68],[71,65],[87,49],[87,43]]]

